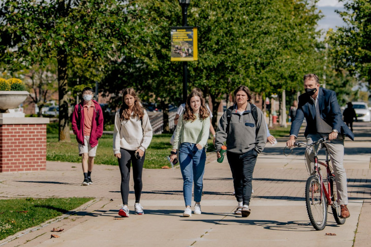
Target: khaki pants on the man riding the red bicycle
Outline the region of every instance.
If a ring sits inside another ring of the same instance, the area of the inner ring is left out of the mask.
[[[306,137],[307,144],[312,144],[322,137],[328,137],[326,133],[308,134]],[[335,173],[336,189],[337,189],[337,202],[340,205],[348,204],[348,190],[347,190],[347,174],[343,165],[344,160],[344,136],[338,134],[337,138],[331,140],[330,143],[325,143],[327,147],[332,168]],[[316,147],[317,148],[317,147]],[[311,175],[314,174],[314,155],[311,150],[305,153],[306,166]]]

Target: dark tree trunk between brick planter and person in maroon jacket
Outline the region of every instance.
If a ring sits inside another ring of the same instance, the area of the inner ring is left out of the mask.
[[[70,142],[70,127],[68,125],[68,96],[67,96],[67,52],[57,51],[58,62],[58,98],[59,98],[59,141]]]

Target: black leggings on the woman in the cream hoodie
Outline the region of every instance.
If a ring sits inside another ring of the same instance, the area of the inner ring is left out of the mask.
[[[141,159],[135,157],[135,151],[120,149],[121,158],[118,159],[118,166],[121,173],[121,197],[122,203],[128,205],[129,198],[129,180],[130,180],[130,165],[133,163],[133,179],[135,202],[140,201],[142,194],[142,171],[145,158],[145,152]]]

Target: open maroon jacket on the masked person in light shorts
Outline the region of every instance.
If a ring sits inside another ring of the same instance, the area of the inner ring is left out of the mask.
[[[92,116],[92,123],[91,123],[91,133],[89,144],[92,148],[98,145],[98,139],[103,134],[103,112],[102,108],[99,103],[95,100],[92,100],[95,111]],[[78,116],[79,111],[79,104],[80,104],[80,117]],[[72,115],[72,130],[73,133],[76,135],[76,140],[79,144],[84,145],[84,101],[75,105],[75,109]],[[96,121],[97,113],[99,113],[98,121]],[[77,126],[77,121],[80,118],[80,129]]]

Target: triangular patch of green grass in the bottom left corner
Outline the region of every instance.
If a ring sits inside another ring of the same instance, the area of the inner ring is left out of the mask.
[[[0,200],[0,240],[61,216],[92,198]]]

